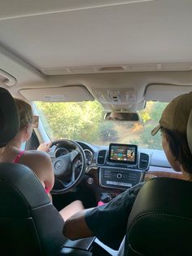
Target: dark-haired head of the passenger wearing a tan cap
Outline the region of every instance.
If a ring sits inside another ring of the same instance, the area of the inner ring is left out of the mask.
[[[159,130],[164,132],[172,156],[190,174],[192,174],[192,155],[187,140],[187,124],[191,109],[192,92],[172,99],[162,113],[159,126],[151,132],[152,135]]]

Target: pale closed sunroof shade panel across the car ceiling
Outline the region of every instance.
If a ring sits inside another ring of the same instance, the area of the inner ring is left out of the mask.
[[[192,60],[192,1],[24,2],[3,1],[1,44],[36,68]]]

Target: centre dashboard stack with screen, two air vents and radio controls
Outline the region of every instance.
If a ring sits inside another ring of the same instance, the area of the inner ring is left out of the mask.
[[[137,145],[111,143],[98,152],[99,183],[105,188],[127,189],[143,181],[150,156],[137,152]]]

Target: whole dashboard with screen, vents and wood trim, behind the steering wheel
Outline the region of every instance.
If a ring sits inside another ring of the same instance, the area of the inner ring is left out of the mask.
[[[169,166],[163,151],[137,148],[133,144],[111,143],[108,146],[98,146],[82,141],[76,143],[84,150],[86,158],[81,188],[89,191],[89,195],[94,193],[97,202],[103,195],[108,200],[127,188],[154,177],[183,179],[180,173]],[[63,156],[72,150],[61,141],[50,148],[50,157]]]

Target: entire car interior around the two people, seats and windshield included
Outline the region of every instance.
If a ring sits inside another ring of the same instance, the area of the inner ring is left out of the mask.
[[[4,255],[192,255],[191,184],[150,137],[164,106],[192,91],[191,10],[188,0],[1,2],[0,148],[23,99],[40,119],[22,148],[52,141],[55,174],[52,204],[33,170],[0,163]],[[192,111],[187,139],[192,153]],[[63,206],[92,208],[141,182],[118,250],[63,236]]]

